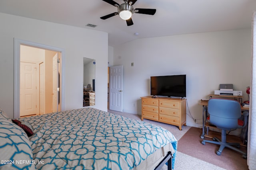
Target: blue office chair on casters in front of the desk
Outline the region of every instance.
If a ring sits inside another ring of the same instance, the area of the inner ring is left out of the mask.
[[[227,143],[226,131],[231,129],[244,128],[247,124],[248,112],[244,111],[241,116],[241,105],[236,100],[228,99],[210,99],[208,102],[208,113],[210,115],[210,123],[221,129],[221,140],[214,137],[213,141],[203,140],[202,144],[206,142],[220,145],[217,155],[220,155],[225,147],[236,150],[243,154],[243,158],[247,158],[247,153],[237,149],[240,147],[239,143]],[[243,119],[241,119],[243,117]],[[236,147],[233,147],[235,145]]]

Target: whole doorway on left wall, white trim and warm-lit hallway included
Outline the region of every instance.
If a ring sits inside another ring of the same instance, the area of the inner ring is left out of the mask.
[[[64,50],[14,39],[14,118],[64,110]]]

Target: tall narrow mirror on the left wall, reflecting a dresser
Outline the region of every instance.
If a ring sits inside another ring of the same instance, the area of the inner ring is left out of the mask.
[[[83,107],[95,105],[95,60],[84,57]]]

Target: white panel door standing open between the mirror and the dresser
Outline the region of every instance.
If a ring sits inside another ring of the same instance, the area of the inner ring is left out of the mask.
[[[111,66],[109,73],[109,109],[123,111],[123,66]]]

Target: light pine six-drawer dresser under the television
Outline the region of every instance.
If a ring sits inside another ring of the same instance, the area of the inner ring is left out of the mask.
[[[150,119],[170,125],[186,125],[186,99],[141,97],[141,120]]]

